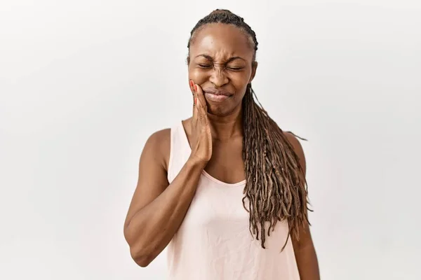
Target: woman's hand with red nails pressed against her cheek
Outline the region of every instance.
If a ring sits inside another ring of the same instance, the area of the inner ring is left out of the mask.
[[[212,135],[208,120],[208,106],[203,96],[200,85],[194,84],[190,80],[190,89],[193,93],[193,118],[192,128],[192,155],[191,157],[199,160],[206,165],[212,156]]]

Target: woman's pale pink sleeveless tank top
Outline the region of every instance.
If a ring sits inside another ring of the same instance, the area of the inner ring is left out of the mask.
[[[189,158],[191,148],[182,123],[171,128],[168,181]],[[171,280],[299,280],[288,223],[279,221],[266,237],[265,249],[251,235],[243,207],[246,180],[224,183],[203,170],[187,214],[167,246]],[[248,201],[245,203],[248,207]],[[260,238],[259,238],[260,239]]]

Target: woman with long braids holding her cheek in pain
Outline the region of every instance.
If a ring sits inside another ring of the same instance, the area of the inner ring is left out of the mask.
[[[168,245],[170,279],[319,279],[302,147],[253,99],[255,32],[215,10],[188,48],[192,118],[142,151],[124,225],[133,260]]]

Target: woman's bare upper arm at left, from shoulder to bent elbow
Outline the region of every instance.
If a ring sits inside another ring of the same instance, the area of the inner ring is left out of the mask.
[[[147,139],[139,161],[138,183],[131,200],[124,230],[131,218],[168,187],[167,166],[170,153],[170,130],[161,130]]]

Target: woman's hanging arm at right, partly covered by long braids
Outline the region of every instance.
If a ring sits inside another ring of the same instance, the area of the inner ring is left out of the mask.
[[[306,173],[305,155],[302,150],[300,141],[290,132],[285,132],[286,137],[293,146],[295,153],[300,159],[300,165]],[[319,262],[317,261],[316,250],[310,234],[309,225],[300,230],[300,239],[292,238],[293,248],[295,253],[295,260],[297,261],[298,272],[300,272],[301,280],[320,280]]]

